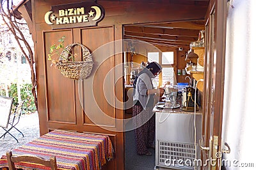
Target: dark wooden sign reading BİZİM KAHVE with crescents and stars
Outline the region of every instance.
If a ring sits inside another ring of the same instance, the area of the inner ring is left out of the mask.
[[[44,16],[52,29],[90,27],[104,18],[104,8],[95,2],[81,2],[51,6]]]

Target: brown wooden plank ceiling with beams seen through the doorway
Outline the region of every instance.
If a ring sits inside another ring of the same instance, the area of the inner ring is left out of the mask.
[[[125,25],[124,38],[139,39],[152,45],[189,48],[198,40],[200,30],[204,30],[204,20],[170,22],[164,24]]]

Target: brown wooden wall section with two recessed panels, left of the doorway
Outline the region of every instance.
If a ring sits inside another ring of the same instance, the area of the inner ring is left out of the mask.
[[[122,25],[43,32],[45,54],[49,53],[47,46],[57,44],[58,39],[65,36],[65,46],[80,42],[90,50],[93,69],[86,80],[72,80],[62,76],[55,67],[51,67],[51,61],[44,57],[47,115],[46,124],[41,125],[41,128],[43,126],[47,128],[44,128],[41,134],[52,129],[107,134],[115,148],[115,159],[102,169],[124,169],[124,133],[120,131],[123,125],[122,121],[116,121],[117,118],[122,120],[124,113],[115,106],[115,96],[122,99],[122,91],[115,92],[116,86],[119,89],[123,87],[121,79],[115,81],[115,77],[119,76],[118,73],[122,74],[122,70],[115,68],[115,64],[122,63],[122,53],[114,54],[115,50],[118,50],[116,48],[122,49],[122,46],[111,44],[119,36],[122,38],[120,28]],[[103,50],[99,53],[100,48]],[[76,60],[82,60],[79,46],[74,48],[74,53],[78,55]],[[107,92],[104,91],[104,86],[108,89]],[[107,101],[106,93],[113,105]],[[118,128],[119,130],[116,130]]]

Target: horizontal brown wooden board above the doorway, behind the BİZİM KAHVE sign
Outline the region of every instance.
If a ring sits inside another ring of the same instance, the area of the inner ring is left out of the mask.
[[[38,1],[36,1],[38,3]],[[51,10],[51,5],[81,2],[77,0],[40,2],[40,12],[35,16],[36,23],[45,23],[44,15]],[[177,20],[201,20],[205,17],[207,6],[197,4],[173,4],[172,1],[161,3],[150,1],[97,1],[106,11],[100,26],[132,23],[170,22]],[[39,8],[39,7],[38,7]],[[51,27],[51,26],[49,26]]]

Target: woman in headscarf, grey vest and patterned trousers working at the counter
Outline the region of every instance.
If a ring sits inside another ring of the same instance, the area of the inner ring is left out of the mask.
[[[138,155],[152,155],[148,148],[155,148],[155,115],[153,110],[155,99],[163,89],[154,89],[152,78],[161,73],[162,67],[157,62],[150,62],[135,78],[133,83],[132,117],[135,129],[135,141]]]

